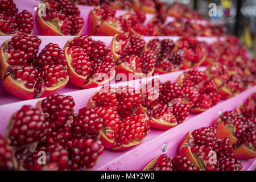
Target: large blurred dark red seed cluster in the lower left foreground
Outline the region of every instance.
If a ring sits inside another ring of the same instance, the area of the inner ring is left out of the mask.
[[[98,140],[103,119],[94,109],[73,113],[71,96],[53,94],[35,108],[23,106],[14,113],[7,129],[7,141],[0,137],[1,169],[85,170],[92,168],[103,152]],[[11,147],[19,148],[11,151]],[[39,152],[46,152],[46,164],[39,164]],[[15,156],[15,158],[14,158]]]

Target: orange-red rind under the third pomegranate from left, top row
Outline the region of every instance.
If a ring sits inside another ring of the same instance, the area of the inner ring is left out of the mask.
[[[102,36],[102,35],[114,36],[115,34],[123,34],[123,31],[118,30],[117,28],[109,24],[107,21],[102,22],[96,32],[96,35],[98,36]]]

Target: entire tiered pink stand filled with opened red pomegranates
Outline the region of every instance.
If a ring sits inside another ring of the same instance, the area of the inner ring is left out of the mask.
[[[0,170],[254,170],[238,38],[178,2],[40,2],[0,0]]]

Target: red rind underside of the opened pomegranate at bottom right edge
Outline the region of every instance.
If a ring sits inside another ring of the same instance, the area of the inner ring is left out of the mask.
[[[240,147],[237,147],[233,150],[234,158],[238,160],[248,160],[253,159],[256,157],[256,152],[253,150],[250,150],[250,148],[247,148],[244,145],[241,145]]]

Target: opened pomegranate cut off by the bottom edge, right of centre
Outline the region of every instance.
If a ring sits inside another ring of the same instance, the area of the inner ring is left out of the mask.
[[[201,171],[195,167],[186,157],[168,157],[166,154],[152,159],[142,171]]]

